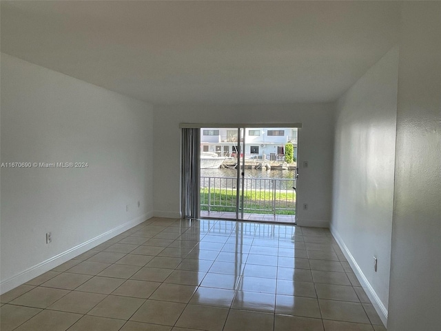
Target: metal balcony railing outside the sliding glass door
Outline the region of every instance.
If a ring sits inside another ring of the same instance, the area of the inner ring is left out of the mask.
[[[236,211],[236,177],[201,177],[201,210]],[[242,185],[242,179],[240,179]],[[296,214],[296,180],[245,178],[239,211],[253,214]]]

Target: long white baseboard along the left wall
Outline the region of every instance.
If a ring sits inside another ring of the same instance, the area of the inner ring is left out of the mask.
[[[94,248],[95,246],[103,243],[104,241],[107,241],[117,236],[118,234],[121,234],[129,230],[130,228],[133,228],[135,225],[143,223],[143,221],[150,219],[151,217],[153,217],[153,212],[147,212],[147,214],[143,214],[141,217],[136,217],[136,219],[132,219],[132,221],[128,221],[122,225],[119,225],[116,228],[113,228],[112,230],[104,232],[99,236],[96,236],[88,241],[85,241],[84,243],[80,243],[79,245],[70,248],[69,250],[65,250],[64,252],[61,252],[60,254],[51,257],[50,259],[47,259],[43,262],[38,263],[37,265],[34,265],[26,270],[23,270],[22,272],[15,274],[9,279],[5,279],[4,281],[1,281],[0,294],[8,292],[13,288],[17,288],[17,286],[27,281],[30,281],[31,279],[34,279],[35,277],[41,274],[44,274],[45,272],[57,267],[58,265],[65,263],[70,259],[73,259],[79,254],[83,254],[83,252],[87,252],[91,248]]]

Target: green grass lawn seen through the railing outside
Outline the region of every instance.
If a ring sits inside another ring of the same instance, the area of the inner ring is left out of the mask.
[[[210,191],[211,211],[236,211],[236,190],[216,188]],[[269,190],[246,190],[243,199],[244,211],[253,214],[272,214],[273,194],[274,192]],[[276,214],[294,215],[295,208],[296,192],[276,192]],[[208,210],[208,188],[201,188],[201,210]]]

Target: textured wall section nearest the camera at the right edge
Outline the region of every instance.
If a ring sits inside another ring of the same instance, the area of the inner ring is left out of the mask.
[[[389,331],[441,325],[441,3],[404,3]]]

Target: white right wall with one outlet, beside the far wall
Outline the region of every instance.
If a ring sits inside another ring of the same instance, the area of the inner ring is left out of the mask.
[[[382,309],[384,321],[389,297],[397,81],[398,46],[340,97],[336,107],[331,231],[373,303]]]

